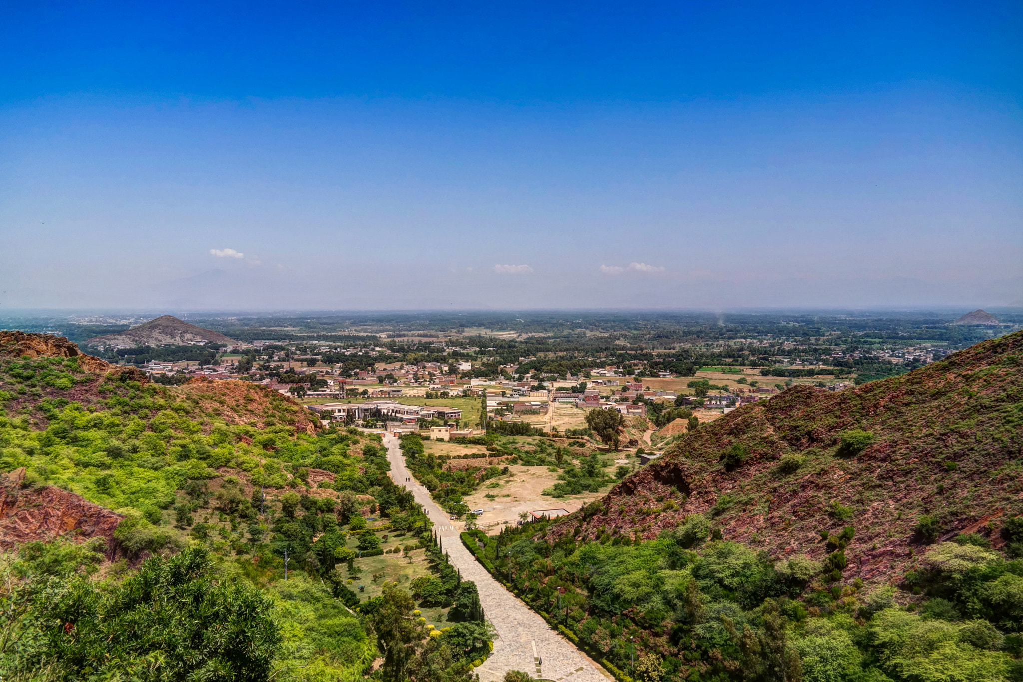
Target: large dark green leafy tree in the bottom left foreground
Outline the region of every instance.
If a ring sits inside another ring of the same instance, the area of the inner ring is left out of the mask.
[[[147,559],[102,590],[83,577],[50,582],[34,600],[38,660],[25,660],[26,672],[45,662],[55,678],[128,679],[159,665],[152,677],[173,682],[268,680],[281,642],[272,602],[244,583],[218,585],[212,572],[196,547]]]

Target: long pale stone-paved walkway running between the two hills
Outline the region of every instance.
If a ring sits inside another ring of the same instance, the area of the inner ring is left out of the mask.
[[[493,579],[461,544],[459,529],[447,520],[447,515],[430,498],[430,492],[405,468],[398,439],[385,436],[384,444],[391,463],[391,478],[412,491],[415,501],[428,510],[441,537],[441,548],[448,553],[451,565],[461,571],[461,577],[476,583],[487,620],[497,631],[493,653],[476,671],[480,682],[500,682],[509,670],[564,682],[607,682],[611,679],[572,642],[551,630],[539,615]]]

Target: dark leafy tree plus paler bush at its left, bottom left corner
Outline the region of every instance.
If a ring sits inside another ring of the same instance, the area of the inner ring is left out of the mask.
[[[205,548],[96,584],[77,571],[95,566],[86,547],[53,545],[27,546],[11,569],[25,580],[4,595],[5,677],[269,677],[281,639],[271,602],[243,582],[214,581]]]

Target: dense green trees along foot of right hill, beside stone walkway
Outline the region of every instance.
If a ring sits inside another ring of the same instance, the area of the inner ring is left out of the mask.
[[[1007,557],[982,536],[960,536],[898,589],[868,590],[837,580],[851,527],[819,562],[714,540],[701,515],[649,541],[548,542],[548,526],[478,534],[477,553],[622,679],[1023,679],[1023,560],[1012,558],[1023,543]],[[1023,540],[1023,518],[1007,532]]]

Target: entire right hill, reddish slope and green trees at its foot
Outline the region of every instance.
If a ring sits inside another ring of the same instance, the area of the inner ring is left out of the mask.
[[[1021,358],[1017,332],[790,389],[579,511],[463,539],[623,682],[1019,682]]]

